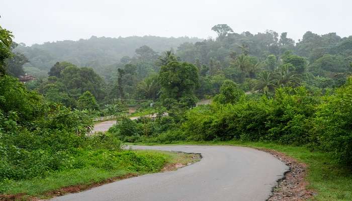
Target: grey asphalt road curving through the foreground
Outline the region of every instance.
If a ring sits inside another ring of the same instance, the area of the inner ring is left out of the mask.
[[[269,153],[235,146],[132,146],[201,153],[201,161],[176,171],[146,174],[52,200],[264,201],[288,167]]]

